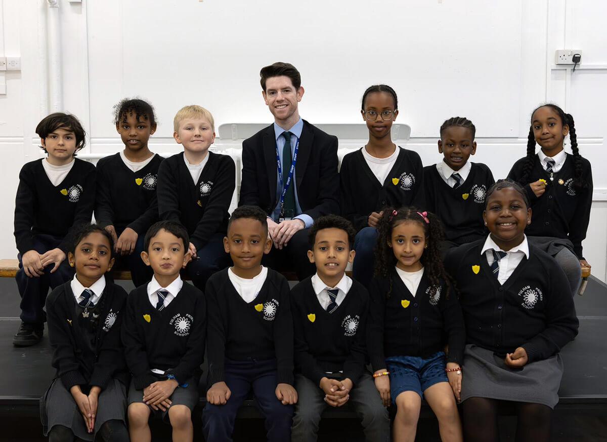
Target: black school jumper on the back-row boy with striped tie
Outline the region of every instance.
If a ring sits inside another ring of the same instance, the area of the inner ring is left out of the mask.
[[[438,216],[445,228],[445,239],[456,244],[486,236],[483,211],[487,191],[495,183],[493,174],[482,163],[470,163],[470,173],[461,186],[452,188],[436,169],[424,168],[426,209]]]

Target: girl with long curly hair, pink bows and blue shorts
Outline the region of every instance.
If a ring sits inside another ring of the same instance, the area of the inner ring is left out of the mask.
[[[396,404],[397,442],[415,440],[422,397],[441,440],[462,440],[456,398],[466,336],[441,240],[438,217],[414,207],[384,209],[378,222],[367,348],[384,405]]]

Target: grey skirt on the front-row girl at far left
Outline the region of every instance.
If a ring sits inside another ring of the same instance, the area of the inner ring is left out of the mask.
[[[63,425],[72,430],[73,434],[83,440],[92,441],[105,422],[115,419],[125,422],[126,387],[117,379],[112,379],[107,388],[99,395],[95,430],[87,432],[84,418],[70,393],[56,378],[50,384],[47,392],[40,398],[40,420],[44,435],[49,435],[55,425]]]

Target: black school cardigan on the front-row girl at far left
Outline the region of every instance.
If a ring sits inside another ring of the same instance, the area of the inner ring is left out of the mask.
[[[106,288],[97,305],[102,302],[93,353],[91,345],[84,342],[89,335],[81,330],[76,318],[76,300],[70,281],[56,287],[46,299],[52,366],[68,391],[75,385],[97,386],[103,390],[112,378],[125,386],[129,384],[120,342],[126,291],[106,279]]]

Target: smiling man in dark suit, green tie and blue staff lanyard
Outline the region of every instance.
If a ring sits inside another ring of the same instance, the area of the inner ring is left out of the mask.
[[[288,257],[304,279],[316,271],[307,257],[307,229],[319,216],[339,213],[337,137],[299,117],[304,88],[292,64],[271,64],[260,76],[274,124],[242,143],[239,205],[268,214],[274,248],[265,264],[282,267]]]

